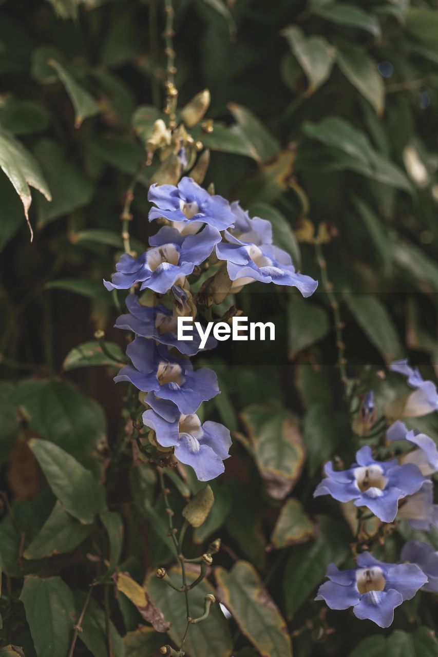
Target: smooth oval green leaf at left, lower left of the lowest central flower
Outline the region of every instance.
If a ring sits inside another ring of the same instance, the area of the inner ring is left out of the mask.
[[[105,489],[64,449],[48,440],[29,441],[45,478],[62,507],[80,522],[93,522],[105,507]]]

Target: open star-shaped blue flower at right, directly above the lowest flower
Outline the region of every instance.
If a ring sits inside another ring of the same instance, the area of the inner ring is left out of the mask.
[[[383,522],[392,522],[399,499],[416,493],[426,481],[412,463],[374,461],[368,445],[356,452],[356,461],[349,470],[340,472],[333,470],[332,463],[326,463],[327,477],[316,487],[314,497],[331,495],[339,502],[353,500],[356,507],[368,507]]]

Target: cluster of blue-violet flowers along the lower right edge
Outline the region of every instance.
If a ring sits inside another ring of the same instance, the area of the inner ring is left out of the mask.
[[[433,382],[424,381],[406,360],[396,361],[391,369],[405,374],[408,384],[415,388],[404,400],[402,417],[418,417],[438,410]],[[370,408],[374,413],[374,397],[368,394],[362,415]],[[386,440],[389,444],[402,443],[406,449],[400,457],[376,461],[371,448],[365,445],[348,470],[335,470],[333,464],[326,464],[326,478],[316,487],[314,497],[331,495],[341,503],[353,501],[356,507],[366,507],[385,523],[404,518],[414,530],[438,527],[438,505],[433,504],[430,479],[438,472],[435,441],[417,429],[408,429],[401,420],[389,426]],[[438,553],[433,547],[408,541],[401,561],[385,564],[365,552],[357,556],[353,570],[341,572],[330,564],[329,581],[322,584],[316,600],[325,600],[331,609],[353,607],[357,618],[368,618],[380,627],[388,627],[393,622],[395,607],[403,600],[410,600],[419,589],[438,592]]]

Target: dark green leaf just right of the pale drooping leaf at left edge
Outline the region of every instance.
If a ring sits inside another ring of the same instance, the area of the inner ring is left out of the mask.
[[[53,190],[50,203],[42,196],[37,199],[37,227],[42,228],[50,221],[87,205],[93,196],[94,188],[84,173],[66,158],[54,141],[41,140],[36,147],[36,156],[41,162],[50,189]]]

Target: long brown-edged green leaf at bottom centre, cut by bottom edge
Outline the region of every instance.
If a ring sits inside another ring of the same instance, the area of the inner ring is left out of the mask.
[[[218,595],[262,657],[292,657],[291,637],[278,607],[254,566],[238,561],[230,572],[215,569]]]

